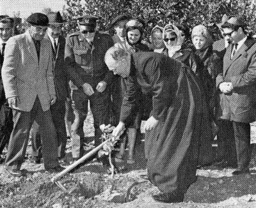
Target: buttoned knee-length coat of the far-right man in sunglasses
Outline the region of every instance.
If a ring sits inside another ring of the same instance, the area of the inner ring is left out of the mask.
[[[230,59],[232,46],[227,48],[223,59],[223,72],[216,78],[221,82],[232,82],[232,93],[220,93],[221,119],[251,123],[255,121],[256,109],[256,41],[248,38]]]

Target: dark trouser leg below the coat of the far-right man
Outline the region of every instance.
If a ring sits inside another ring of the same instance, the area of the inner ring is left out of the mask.
[[[248,168],[251,159],[250,123],[233,121],[236,141],[237,165],[239,168]]]

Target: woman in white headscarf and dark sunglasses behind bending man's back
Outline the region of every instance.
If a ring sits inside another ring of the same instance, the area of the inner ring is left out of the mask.
[[[182,31],[176,26],[168,24],[164,27],[163,40],[166,47],[163,54],[186,64],[192,71],[198,68],[198,60],[196,60],[191,48],[184,45]]]

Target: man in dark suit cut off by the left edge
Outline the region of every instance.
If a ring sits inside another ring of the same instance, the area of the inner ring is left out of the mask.
[[[6,42],[12,37],[13,34],[13,19],[6,16],[0,16],[0,70],[4,62],[4,50]],[[10,135],[12,133],[12,108],[8,107],[4,94],[3,80],[0,74],[0,155],[4,147],[8,144]],[[0,163],[4,159],[0,157]]]

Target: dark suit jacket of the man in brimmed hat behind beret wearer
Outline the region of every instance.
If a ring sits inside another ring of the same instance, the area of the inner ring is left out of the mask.
[[[51,41],[48,35],[45,35],[45,38]],[[54,48],[52,47],[54,83],[58,100],[66,100],[68,97],[68,76],[64,64],[65,43],[65,38],[60,36],[56,54],[54,52]]]

